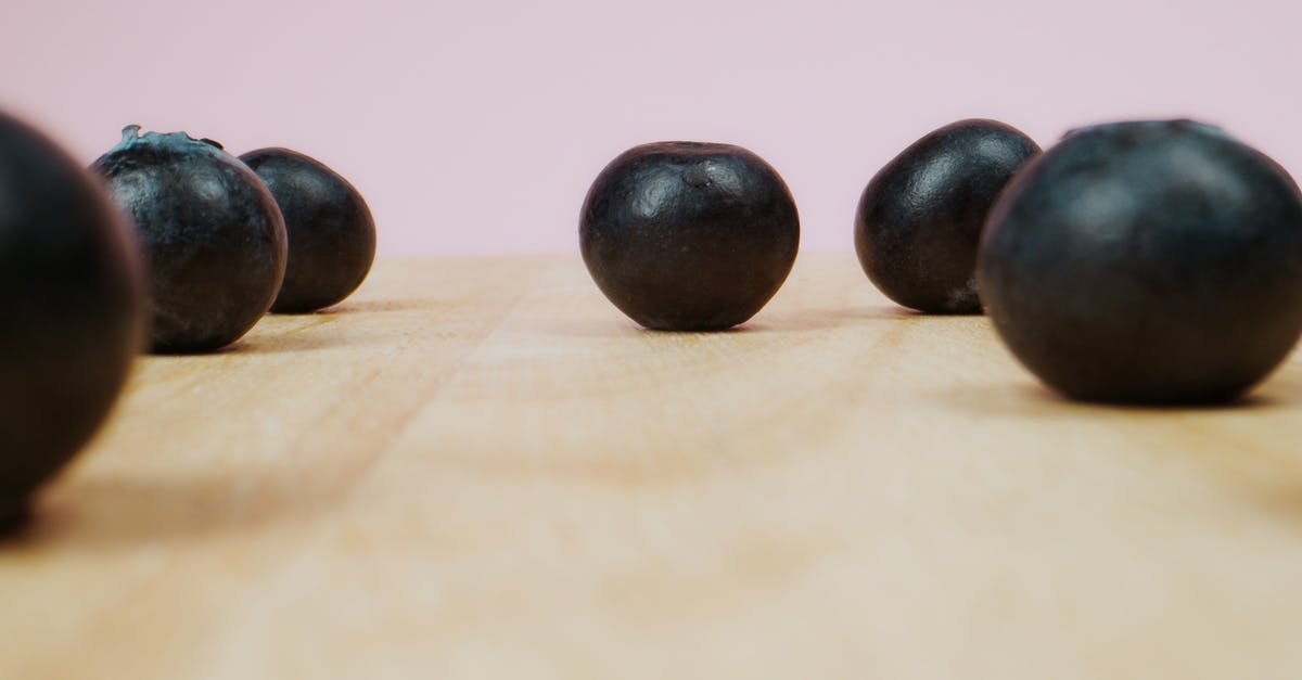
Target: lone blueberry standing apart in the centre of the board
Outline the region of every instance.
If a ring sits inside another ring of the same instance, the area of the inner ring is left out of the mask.
[[[592,280],[629,318],[658,331],[746,322],[786,280],[798,245],[786,184],[730,145],[630,149],[592,182],[579,220]]]

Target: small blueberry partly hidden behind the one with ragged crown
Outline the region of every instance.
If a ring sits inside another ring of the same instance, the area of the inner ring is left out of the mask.
[[[266,182],[289,237],[285,281],[271,311],[315,311],[357,290],[375,261],[375,220],[362,194],[316,159],[288,149],[240,156]]]

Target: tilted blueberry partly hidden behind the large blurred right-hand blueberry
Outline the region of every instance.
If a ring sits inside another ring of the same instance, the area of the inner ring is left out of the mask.
[[[976,248],[986,216],[1013,175],[1040,152],[993,120],[927,134],[881,168],[859,198],[854,250],[894,302],[932,314],[979,314]]]

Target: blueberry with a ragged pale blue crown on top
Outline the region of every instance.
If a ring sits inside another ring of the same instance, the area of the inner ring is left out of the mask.
[[[91,168],[137,227],[154,352],[220,349],[267,313],[285,275],[285,223],[247,165],[216,142],[132,125]]]

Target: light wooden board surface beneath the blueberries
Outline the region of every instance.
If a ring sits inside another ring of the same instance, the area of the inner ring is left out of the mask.
[[[150,357],[0,545],[0,677],[1302,677],[1302,360],[1062,401],[802,254],[639,331],[577,257],[381,261]]]

